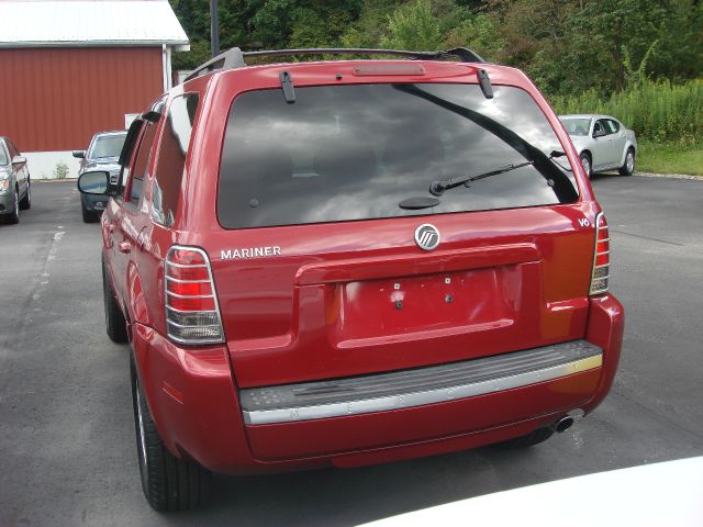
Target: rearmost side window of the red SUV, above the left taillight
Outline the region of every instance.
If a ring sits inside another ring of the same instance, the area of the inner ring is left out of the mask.
[[[174,225],[178,209],[198,100],[197,93],[175,98],[164,124],[152,195],[152,217],[167,227]]]

